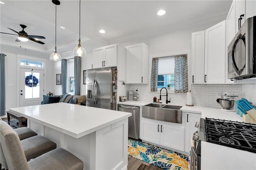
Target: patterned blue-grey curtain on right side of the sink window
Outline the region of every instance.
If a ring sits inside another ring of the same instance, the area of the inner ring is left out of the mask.
[[[174,93],[188,92],[188,59],[187,54],[176,55],[175,59],[175,78]]]

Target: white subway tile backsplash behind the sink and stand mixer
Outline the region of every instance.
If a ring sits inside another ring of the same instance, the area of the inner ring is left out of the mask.
[[[130,84],[130,90],[135,91],[138,89],[140,101],[153,102],[153,97],[160,97],[160,91],[150,92],[150,84]],[[246,85],[196,85],[192,84],[192,99],[193,105],[222,108],[216,99],[220,97],[223,92],[232,92],[238,97],[235,100],[246,98],[248,101],[256,105],[256,84]],[[165,91],[163,91],[165,93]],[[182,94],[168,94],[168,98],[171,98],[171,104],[185,105],[186,104],[186,93]],[[168,100],[169,100],[168,99]],[[162,102],[165,103],[166,97],[162,97]]]

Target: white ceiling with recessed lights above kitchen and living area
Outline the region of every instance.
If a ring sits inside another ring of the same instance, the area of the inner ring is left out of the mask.
[[[1,44],[52,53],[55,45],[55,5],[51,0],[1,0],[0,32],[16,34],[27,26],[29,35],[44,36],[45,44],[15,42],[0,34]],[[116,43],[223,20],[232,0],[81,0],[81,40],[86,50],[100,43]],[[166,10],[164,16],[156,12]],[[60,28],[60,26],[66,29]],[[7,28],[8,27],[8,28]],[[105,34],[99,30],[104,29]],[[71,51],[79,39],[79,0],[60,0],[57,6],[57,49]]]

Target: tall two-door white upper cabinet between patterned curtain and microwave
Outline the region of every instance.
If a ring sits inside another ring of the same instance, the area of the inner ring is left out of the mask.
[[[192,83],[224,84],[226,20],[192,33]]]

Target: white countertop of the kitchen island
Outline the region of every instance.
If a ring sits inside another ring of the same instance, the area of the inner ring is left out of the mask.
[[[17,107],[10,111],[74,138],[80,138],[132,115],[69,103]]]

